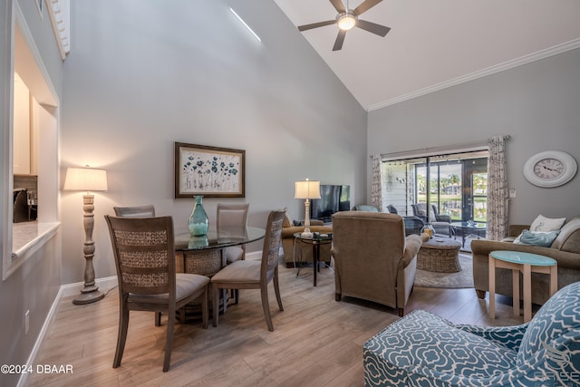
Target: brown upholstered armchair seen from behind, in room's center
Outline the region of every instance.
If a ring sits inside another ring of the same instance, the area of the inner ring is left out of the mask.
[[[417,268],[418,235],[405,237],[403,218],[380,212],[333,215],[336,301],[343,295],[404,313]]]

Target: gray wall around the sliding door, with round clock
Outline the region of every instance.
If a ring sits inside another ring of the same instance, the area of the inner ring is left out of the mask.
[[[526,160],[564,150],[580,162],[580,49],[371,111],[368,154],[420,150],[507,134],[509,221],[530,224],[538,214],[580,214],[580,176],[554,189],[524,178]],[[370,165],[370,163],[369,163]],[[370,187],[370,174],[367,185]]]

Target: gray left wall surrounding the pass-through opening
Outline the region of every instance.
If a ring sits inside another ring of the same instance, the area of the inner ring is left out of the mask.
[[[14,2],[15,3],[15,2]],[[23,0],[18,4],[22,9],[26,24],[36,42],[36,49],[43,58],[43,66],[57,93],[61,92],[63,63],[53,36],[49,16],[44,12],[41,20],[34,2]],[[9,194],[11,171],[5,155],[11,153],[9,136],[12,85],[11,51],[14,42],[14,18],[12,0],[0,0],[0,208],[2,208],[0,235],[5,235],[7,212],[12,210],[12,195]],[[10,254],[10,247],[0,238],[3,259]],[[11,276],[0,282],[0,364],[25,364],[34,343],[40,334],[61,285],[60,236],[53,237],[43,249],[30,256],[24,265],[18,267]],[[24,334],[24,313],[30,311],[30,330]],[[19,374],[0,374],[0,385],[12,386],[18,382]]]

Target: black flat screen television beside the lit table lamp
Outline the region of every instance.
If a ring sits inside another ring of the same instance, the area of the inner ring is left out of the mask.
[[[351,209],[351,186],[331,184],[320,185],[320,198],[311,200],[310,218],[332,221],[332,216],[338,211]]]

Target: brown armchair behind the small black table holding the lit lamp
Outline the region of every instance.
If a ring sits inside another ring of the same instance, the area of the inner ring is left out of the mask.
[[[304,226],[294,226],[292,220],[288,218],[288,213],[286,213],[284,223],[282,224],[282,248],[284,250],[284,262],[286,267],[294,267],[295,262],[313,261],[312,245],[301,244],[299,241],[296,241],[295,245],[295,233],[303,231]],[[322,220],[311,219],[310,231],[319,232],[321,234],[331,234],[333,232],[333,227],[324,226]],[[320,262],[330,264],[330,244],[321,245],[319,258]]]

